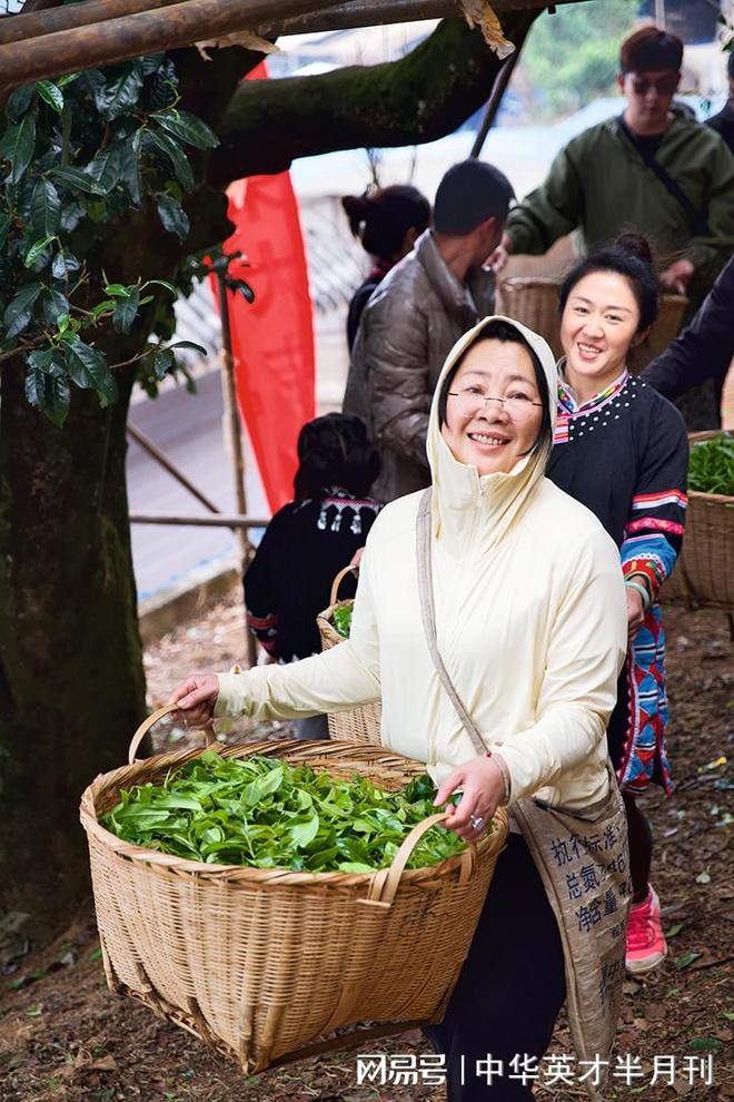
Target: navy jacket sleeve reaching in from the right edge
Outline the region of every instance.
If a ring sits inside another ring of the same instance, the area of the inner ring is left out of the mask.
[[[641,372],[639,377],[671,401],[711,378],[718,404],[733,358],[734,256],[691,324]]]

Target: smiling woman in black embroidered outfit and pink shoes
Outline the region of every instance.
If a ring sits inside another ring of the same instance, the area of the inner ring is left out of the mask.
[[[598,516],[619,548],[628,655],[607,739],[627,810],[633,904],[627,968],[665,957],[659,903],[649,885],[652,835],[637,805],[649,784],[669,794],[665,636],[657,591],[681,550],[688,444],[677,410],[629,375],[629,348],[657,316],[649,246],[624,234],[581,260],[561,289],[558,419],[548,478]]]

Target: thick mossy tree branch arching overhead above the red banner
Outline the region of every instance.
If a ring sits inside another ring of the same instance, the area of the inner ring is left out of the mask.
[[[536,11],[508,12],[512,40]],[[450,134],[484,104],[500,66],[479,31],[445,19],[407,57],[317,77],[240,85],[217,127],[209,183],[280,173],[296,157],[405,146]]]

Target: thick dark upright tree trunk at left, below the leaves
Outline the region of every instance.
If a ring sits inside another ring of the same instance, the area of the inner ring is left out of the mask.
[[[56,429],[2,372],[0,909],[51,925],[87,885],[79,796],[145,715],[119,375],[116,405],[76,392]]]

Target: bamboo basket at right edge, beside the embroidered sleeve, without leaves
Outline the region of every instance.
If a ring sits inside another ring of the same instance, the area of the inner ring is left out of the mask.
[[[693,432],[688,440],[695,444],[717,435]],[[688,491],[683,550],[661,596],[734,612],[734,498]]]

